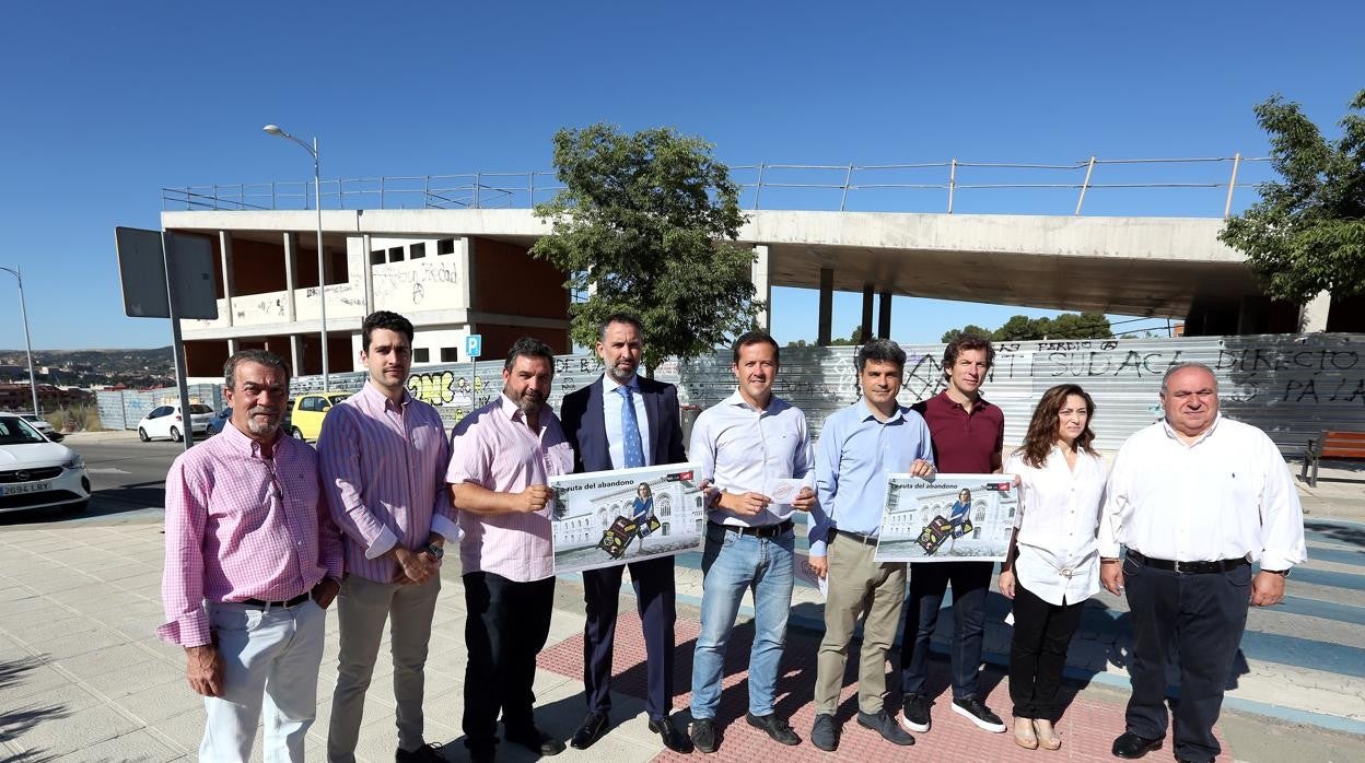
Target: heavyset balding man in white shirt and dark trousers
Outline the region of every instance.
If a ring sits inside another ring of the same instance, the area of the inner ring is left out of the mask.
[[[1213,760],[1213,722],[1248,603],[1283,599],[1289,568],[1306,558],[1304,512],[1271,438],[1219,415],[1208,366],[1171,367],[1162,408],[1164,420],[1129,437],[1114,460],[1100,516],[1100,580],[1115,595],[1126,587],[1133,613],[1133,696],[1112,752],[1132,759],[1162,745],[1174,644],[1175,758]],[[1119,545],[1127,547],[1122,562]]]

